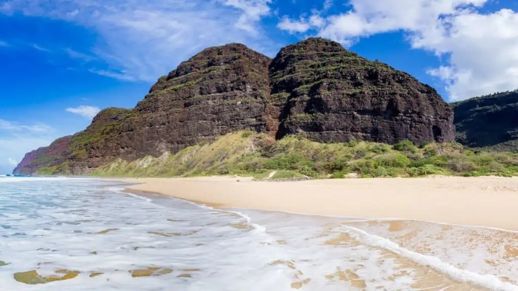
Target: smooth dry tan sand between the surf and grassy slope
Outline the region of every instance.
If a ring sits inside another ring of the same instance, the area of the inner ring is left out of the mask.
[[[239,182],[237,180],[240,180]],[[247,178],[123,179],[221,208],[411,219],[518,231],[518,178],[440,177],[253,182]]]

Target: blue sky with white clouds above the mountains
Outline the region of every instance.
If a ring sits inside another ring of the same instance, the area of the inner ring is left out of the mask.
[[[451,102],[518,88],[516,27],[514,0],[0,0],[0,173],[210,46],[321,36]]]

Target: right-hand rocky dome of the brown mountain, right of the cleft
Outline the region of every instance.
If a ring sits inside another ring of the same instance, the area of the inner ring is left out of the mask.
[[[283,48],[270,80],[272,93],[286,96],[278,137],[419,144],[455,136],[453,110],[433,88],[333,41],[308,39]]]

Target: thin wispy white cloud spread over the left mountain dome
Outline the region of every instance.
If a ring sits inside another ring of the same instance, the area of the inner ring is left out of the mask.
[[[68,53],[95,57],[85,70],[124,80],[154,82],[198,51],[242,42],[268,54],[261,25],[271,0],[7,0],[0,13],[59,19],[98,33],[91,48]],[[275,48],[274,48],[275,47]],[[81,60],[81,59],[79,59]],[[84,59],[83,59],[84,60]]]

